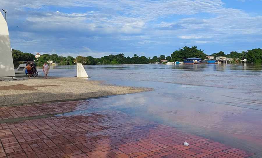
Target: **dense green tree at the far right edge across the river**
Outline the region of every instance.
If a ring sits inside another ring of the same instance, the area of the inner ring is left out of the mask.
[[[261,64],[262,63],[262,49],[257,48],[257,49],[248,50],[246,57],[247,57],[248,63]]]

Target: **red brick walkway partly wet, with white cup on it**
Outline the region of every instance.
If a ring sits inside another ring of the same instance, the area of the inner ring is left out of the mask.
[[[87,101],[1,107],[1,120],[86,110]],[[104,110],[0,124],[0,158],[244,158],[254,154]],[[184,141],[190,145],[183,146]]]

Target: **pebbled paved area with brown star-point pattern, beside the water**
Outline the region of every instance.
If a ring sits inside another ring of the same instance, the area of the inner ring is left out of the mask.
[[[152,90],[115,86],[76,77],[49,77],[0,82],[0,106],[47,101],[68,101]]]

